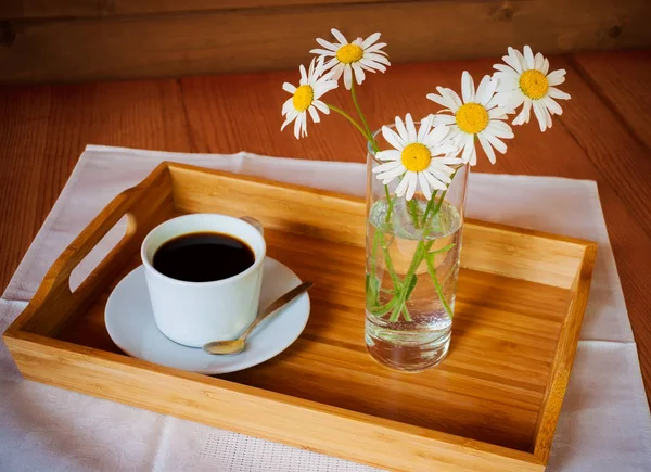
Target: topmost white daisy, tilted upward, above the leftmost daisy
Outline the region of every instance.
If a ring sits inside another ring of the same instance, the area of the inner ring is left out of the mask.
[[[375,71],[385,72],[386,65],[391,65],[386,59],[386,52],[382,48],[385,42],[379,42],[380,33],[375,33],[362,40],[357,38],[353,42],[348,42],[346,37],[337,29],[331,29],[332,35],[337,42],[328,42],[324,39],[317,38],[317,42],[326,49],[312,49],[312,54],[320,54],[320,59],[326,62],[326,71],[332,68],[333,80],[339,80],[342,74],[344,75],[344,85],[350,90],[353,87],[353,75],[357,84],[361,85],[366,78],[365,71],[375,73]]]

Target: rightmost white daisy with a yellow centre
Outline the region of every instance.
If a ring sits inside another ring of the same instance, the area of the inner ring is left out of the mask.
[[[507,64],[493,66],[497,69],[493,77],[499,82],[497,100],[513,110],[524,103],[513,125],[528,123],[533,107],[540,131],[551,128],[551,115],[563,113],[554,99],[570,99],[569,93],[556,88],[565,81],[565,69],[549,73],[549,61],[539,52],[534,56],[528,46],[524,47],[524,55],[513,48],[509,48],[508,52],[502,58]]]

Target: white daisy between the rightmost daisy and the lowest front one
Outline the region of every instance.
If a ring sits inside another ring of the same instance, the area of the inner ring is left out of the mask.
[[[507,119],[507,107],[498,106],[495,89],[497,80],[484,76],[475,92],[474,81],[468,73],[461,76],[461,98],[452,89],[437,87],[436,93],[429,93],[427,99],[438,103],[450,115],[435,115],[435,125],[450,128],[449,138],[463,150],[461,160],[474,166],[477,163],[475,137],[492,164],[495,164],[495,150],[501,154],[507,152],[502,139],[513,138],[511,127],[503,123]]]

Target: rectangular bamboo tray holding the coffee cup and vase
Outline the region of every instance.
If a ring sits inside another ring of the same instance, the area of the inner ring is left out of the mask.
[[[175,215],[251,215],[268,254],[314,280],[303,335],[260,366],[213,378],[125,356],[104,304]],[[71,292],[72,270],[128,215],[125,238]],[[64,251],[4,334],[38,382],[401,471],[540,471],[576,349],[597,245],[467,221],[449,357],[424,373],[363,344],[365,203],[164,163]]]

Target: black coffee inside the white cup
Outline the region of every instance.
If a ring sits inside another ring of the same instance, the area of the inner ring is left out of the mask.
[[[163,244],[154,254],[154,268],[173,279],[212,282],[248,269],[253,250],[239,239],[217,232],[182,234]]]

